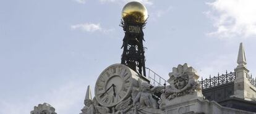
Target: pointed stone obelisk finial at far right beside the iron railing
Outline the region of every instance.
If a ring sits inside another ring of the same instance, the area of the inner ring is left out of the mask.
[[[237,67],[245,67],[246,63],[246,58],[245,58],[245,52],[244,52],[244,46],[242,46],[242,43],[240,43],[239,46],[239,52],[237,56]]]

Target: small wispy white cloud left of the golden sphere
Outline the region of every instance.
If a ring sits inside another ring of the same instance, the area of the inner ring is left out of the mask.
[[[101,30],[100,23],[79,23],[76,25],[71,26],[72,30],[82,30],[82,31],[88,31],[93,32],[96,30]]]

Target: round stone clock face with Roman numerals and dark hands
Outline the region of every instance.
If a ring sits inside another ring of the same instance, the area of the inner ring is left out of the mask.
[[[112,107],[124,100],[132,87],[130,68],[114,64],[106,68],[95,85],[96,100],[105,107]]]

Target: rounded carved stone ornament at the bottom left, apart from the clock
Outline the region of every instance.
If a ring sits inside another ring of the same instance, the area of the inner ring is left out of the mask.
[[[51,105],[43,103],[38,104],[38,106],[34,107],[34,110],[30,112],[30,114],[57,114],[55,112],[55,108],[53,108]]]

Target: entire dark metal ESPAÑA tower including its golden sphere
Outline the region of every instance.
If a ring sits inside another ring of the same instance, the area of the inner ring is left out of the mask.
[[[132,6],[132,7],[130,7]],[[130,2],[122,10],[120,26],[124,30],[121,63],[127,65],[140,75],[146,76],[145,51],[143,47],[143,28],[147,20],[147,9],[139,2]]]

